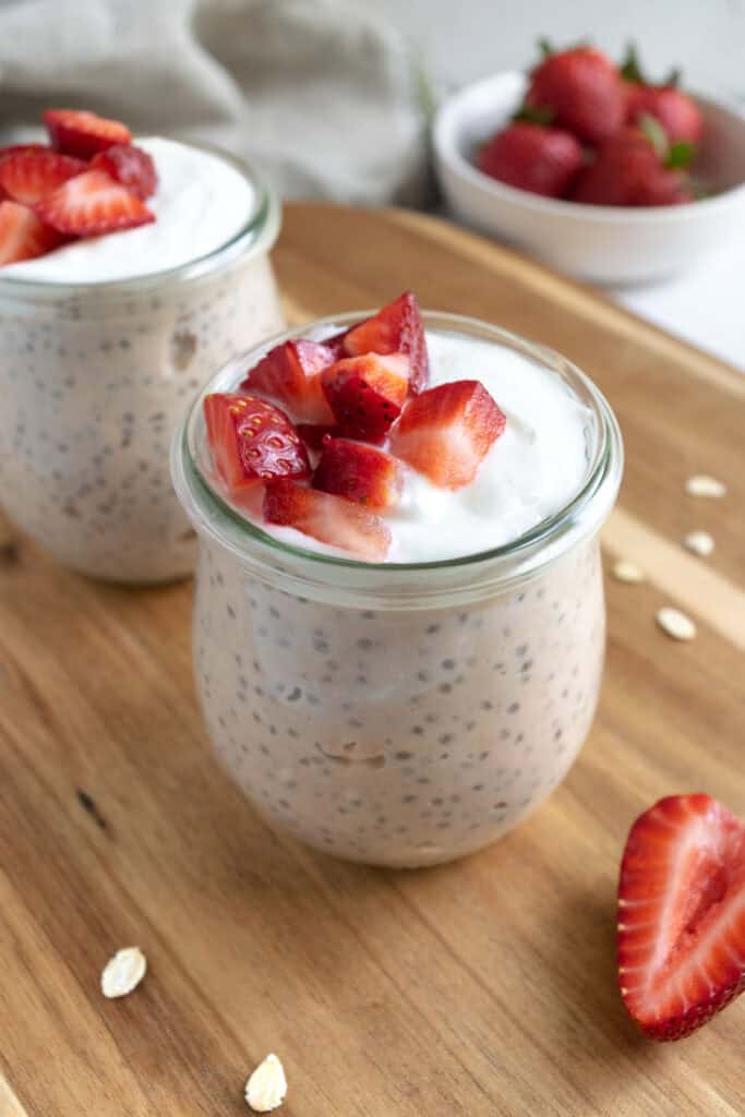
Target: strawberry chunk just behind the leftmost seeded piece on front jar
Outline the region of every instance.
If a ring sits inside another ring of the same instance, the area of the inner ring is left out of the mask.
[[[318,342],[284,342],[251,369],[240,388],[277,400],[294,419],[333,423],[321,384],[321,373],[333,361],[332,351]]]

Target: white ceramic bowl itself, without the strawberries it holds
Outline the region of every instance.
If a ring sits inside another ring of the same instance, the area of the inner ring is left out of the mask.
[[[479,144],[507,123],[525,87],[525,75],[498,74],[460,89],[437,114],[438,176],[465,225],[601,284],[663,279],[745,231],[745,118],[735,109],[696,98],[705,128],[697,174],[714,197],[643,209],[583,206],[516,190],[474,166]]]

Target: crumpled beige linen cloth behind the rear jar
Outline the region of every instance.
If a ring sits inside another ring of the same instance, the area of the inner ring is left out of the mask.
[[[365,0],[0,2],[2,142],[48,106],[207,140],[285,197],[417,204],[422,83]]]

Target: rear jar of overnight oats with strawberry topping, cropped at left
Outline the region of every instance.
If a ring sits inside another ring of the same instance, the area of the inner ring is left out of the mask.
[[[216,366],[280,330],[277,202],[237,162],[88,113],[0,149],[0,503],[60,562],[191,572],[169,445]]]

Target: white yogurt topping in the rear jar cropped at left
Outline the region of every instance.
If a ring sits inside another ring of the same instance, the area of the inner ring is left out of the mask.
[[[175,140],[136,143],[157,171],[157,190],[146,201],[155,221],[0,268],[0,278],[86,284],[152,275],[208,256],[248,221],[256,191],[230,163]]]

